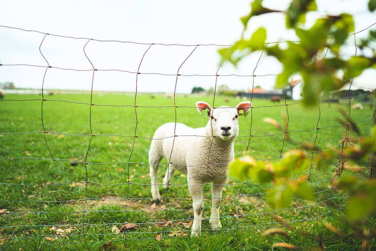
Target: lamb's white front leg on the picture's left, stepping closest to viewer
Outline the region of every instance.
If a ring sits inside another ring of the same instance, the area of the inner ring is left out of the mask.
[[[194,212],[194,220],[192,224],[191,234],[196,235],[196,236],[201,231],[202,211],[204,209],[201,184],[202,183],[190,181],[188,179],[189,192],[193,199],[193,212]]]

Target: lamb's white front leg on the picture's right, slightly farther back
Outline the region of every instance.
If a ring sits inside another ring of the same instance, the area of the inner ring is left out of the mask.
[[[222,225],[219,217],[219,204],[222,198],[223,187],[227,184],[229,178],[215,181],[212,186],[212,212],[210,216],[210,224],[212,229],[221,229]]]

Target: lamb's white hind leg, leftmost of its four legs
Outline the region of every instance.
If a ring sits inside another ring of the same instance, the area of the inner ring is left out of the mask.
[[[158,189],[158,169],[159,163],[162,159],[162,154],[159,152],[158,142],[152,141],[152,145],[149,150],[149,164],[150,164],[150,183],[152,189],[153,201],[161,199]]]

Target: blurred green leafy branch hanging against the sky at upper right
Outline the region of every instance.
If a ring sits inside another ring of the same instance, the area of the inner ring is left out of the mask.
[[[368,9],[374,11],[376,1],[371,0]],[[354,21],[350,14],[328,15],[318,18],[315,23],[305,29],[305,15],[309,11],[316,11],[314,0],[293,0],[284,12],[286,27],[293,29],[300,42],[288,41],[287,48],[281,49],[276,43],[270,46],[266,42],[267,33],[264,27],[259,27],[250,38],[244,37],[249,20],[253,16],[281,12],[262,6],[262,0],[251,3],[251,11],[240,20],[244,24],[241,38],[228,48],[220,49],[222,61],[229,61],[237,65],[239,61],[252,52],[263,50],[274,56],[283,65],[282,72],[277,76],[276,88],[283,88],[294,73],[299,73],[303,79],[303,104],[315,105],[323,91],[334,91],[349,83],[352,78],[359,76],[367,68],[376,68],[376,52],[371,43],[376,41],[376,30],[371,30],[368,37],[358,45],[359,54],[349,59],[340,56],[340,48],[346,44],[349,34],[354,32]],[[355,39],[355,38],[354,38]],[[330,57],[322,55],[328,49]],[[363,50],[373,52],[366,56]]]

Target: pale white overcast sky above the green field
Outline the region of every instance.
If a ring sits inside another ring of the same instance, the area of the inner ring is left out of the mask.
[[[290,0],[264,1],[273,9],[286,9]],[[326,14],[347,12],[354,15],[355,30],[376,22],[375,14],[367,11],[368,0],[318,0],[320,12],[307,15],[307,25]],[[99,40],[134,41],[165,44],[232,44],[241,34],[239,18],[249,12],[250,1],[5,1],[0,9],[3,26],[39,30],[56,35],[95,38]],[[267,41],[297,40],[292,30],[285,28],[283,14],[253,17],[249,33],[260,26],[267,29]],[[372,27],[376,29],[376,25]],[[358,33],[359,41],[368,31]],[[0,27],[0,62],[2,64],[46,65],[39,53],[41,33]],[[53,67],[92,69],[83,53],[88,40],[47,35],[41,51]],[[149,45],[90,41],[85,51],[97,69],[119,69],[136,72]],[[183,64],[183,75],[215,75],[219,56],[217,46],[199,46]],[[146,53],[139,72],[176,74],[194,46],[153,45]],[[341,54],[355,53],[353,37]],[[218,74],[252,75],[260,52],[244,59],[238,68],[223,65]],[[12,81],[16,87],[40,88],[45,68],[1,66],[0,82]],[[255,75],[277,74],[280,64],[262,56]],[[92,71],[71,71],[49,68],[45,88],[89,90]],[[135,74],[120,71],[96,71],[94,90],[135,91]],[[139,75],[138,91],[173,92],[176,76]],[[354,80],[354,87],[374,88],[375,70],[368,70]],[[177,92],[190,92],[193,86],[214,86],[215,76],[180,76]],[[252,77],[220,76],[218,84],[233,89],[252,87]],[[258,76],[255,85],[272,89],[274,76]]]

